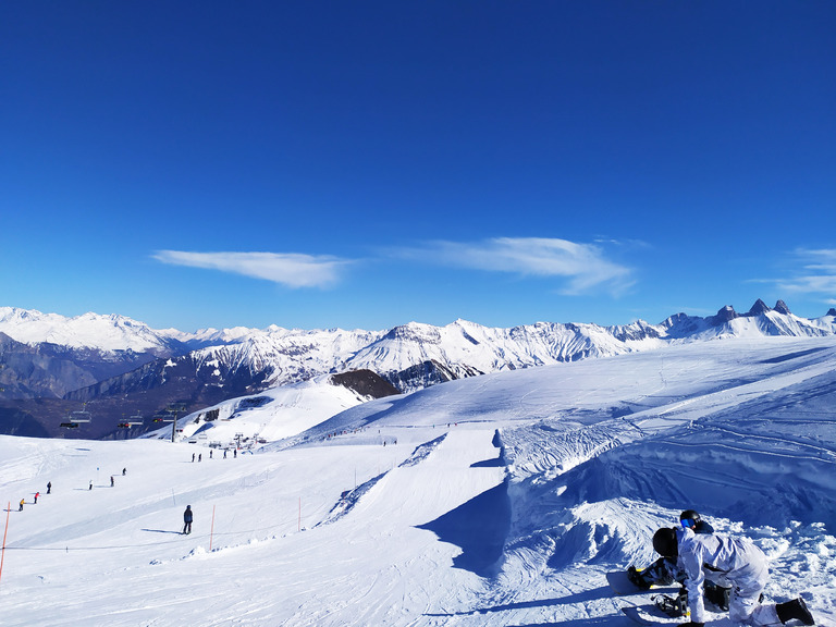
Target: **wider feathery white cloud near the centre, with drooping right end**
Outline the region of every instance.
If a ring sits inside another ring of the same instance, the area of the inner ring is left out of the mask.
[[[631,270],[606,258],[601,247],[545,237],[499,237],[475,243],[431,242],[401,249],[401,257],[457,268],[521,275],[558,276],[565,294],[604,286],[613,293],[632,284]]]

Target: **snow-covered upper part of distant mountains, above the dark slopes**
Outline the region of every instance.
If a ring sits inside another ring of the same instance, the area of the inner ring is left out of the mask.
[[[795,316],[783,300],[774,308],[758,300],[746,314],[733,307],[701,318],[677,314],[659,324],[626,325],[553,323],[499,329],[466,320],[445,327],[410,322],[388,331],[205,329],[186,333],[153,330],[123,316],[58,314],[0,307],[0,333],[28,345],[53,344],[102,355],[135,353],[159,357],[192,354],[197,367],[223,366],[230,371],[272,370],[270,385],[305,380],[324,372],[369,368],[394,377],[431,361],[455,378],[544,364],[575,361],[657,348],[665,343],[723,336],[822,336],[836,333],[836,309],[807,319]],[[439,372],[444,378],[444,373]],[[421,381],[403,381],[407,389]],[[406,390],[405,390],[406,391]]]

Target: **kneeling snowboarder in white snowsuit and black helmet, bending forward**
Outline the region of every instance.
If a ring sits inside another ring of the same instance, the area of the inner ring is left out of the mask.
[[[705,624],[702,600],[705,568],[722,573],[734,586],[728,604],[732,620],[753,627],[786,624],[792,619],[814,625],[813,616],[800,597],[786,603],[759,604],[770,570],[766,556],[747,538],[698,534],[689,527],[662,528],[653,536],[653,549],[663,557],[677,561],[685,571],[691,622],[679,627],[703,627]]]

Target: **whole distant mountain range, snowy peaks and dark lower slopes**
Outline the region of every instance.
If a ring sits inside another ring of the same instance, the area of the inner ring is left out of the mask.
[[[196,333],[153,330],[115,315],[64,318],[0,307],[0,399],[14,402],[19,422],[21,413],[36,414],[27,399],[52,399],[56,407],[62,406],[59,399],[107,401],[111,411],[145,413],[176,399],[196,409],[351,370],[371,370],[407,393],[453,379],[671,343],[833,334],[836,309],[807,319],[791,314],[783,300],[770,308],[760,299],[746,314],[726,306],[711,317],[677,314],[659,324],[538,322],[501,329],[456,320],[445,327],[409,322],[385,331],[271,325]],[[2,422],[0,408],[0,432]]]

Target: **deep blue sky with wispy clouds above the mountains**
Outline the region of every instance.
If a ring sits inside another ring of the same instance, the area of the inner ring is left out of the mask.
[[[836,306],[836,3],[7,2],[0,305],[155,328]]]

